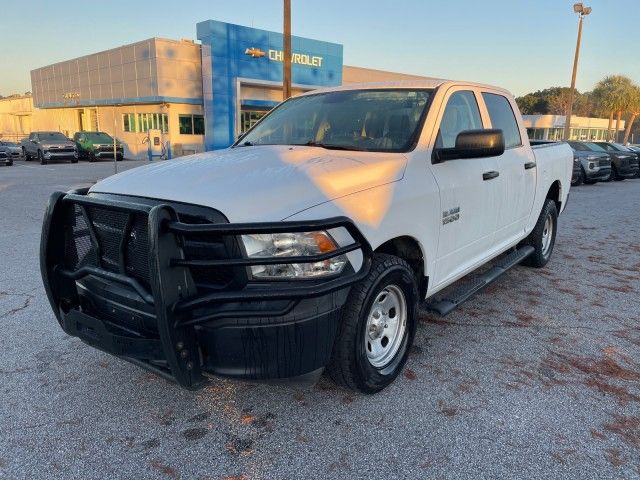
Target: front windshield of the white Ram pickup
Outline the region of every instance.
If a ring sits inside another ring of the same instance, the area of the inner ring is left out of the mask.
[[[310,145],[401,152],[411,148],[432,90],[347,90],[292,98],[236,146]]]

